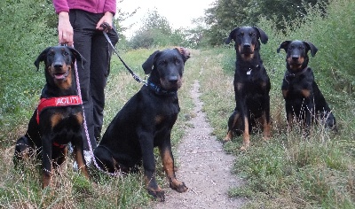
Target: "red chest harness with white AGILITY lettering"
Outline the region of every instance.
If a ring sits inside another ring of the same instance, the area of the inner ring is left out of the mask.
[[[82,97],[79,96],[67,96],[67,97],[50,97],[50,98],[41,98],[37,106],[37,116],[36,120],[39,124],[39,115],[44,108],[47,107],[59,107],[59,106],[73,106],[73,105],[82,105]]]

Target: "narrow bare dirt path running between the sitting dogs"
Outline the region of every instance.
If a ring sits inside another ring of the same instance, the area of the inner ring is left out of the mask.
[[[225,154],[222,144],[210,135],[212,128],[201,111],[200,83],[194,81],[191,95],[195,104],[196,117],[190,120],[192,128],[177,148],[175,159],[179,162],[177,179],[189,188],[185,193],[165,190],[165,202],[155,208],[240,208],[243,199],[229,198],[227,190],[241,185],[231,174],[232,155]]]

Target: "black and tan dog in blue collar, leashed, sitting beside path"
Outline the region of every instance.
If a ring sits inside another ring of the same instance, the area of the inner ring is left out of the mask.
[[[164,201],[164,192],[155,181],[156,146],[170,188],[187,190],[175,176],[170,132],[180,110],[177,89],[189,56],[184,48],[155,51],[143,64],[145,73],[150,74],[146,85],[117,113],[94,151],[99,166],[112,173],[130,172],[143,161],[146,190],[160,201]]]

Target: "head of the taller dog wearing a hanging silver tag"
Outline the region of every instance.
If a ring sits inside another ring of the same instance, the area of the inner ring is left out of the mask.
[[[267,43],[268,37],[265,32],[258,27],[236,27],[225,40],[226,44],[234,40],[237,54],[245,61],[254,58],[255,51],[260,49],[260,42]]]

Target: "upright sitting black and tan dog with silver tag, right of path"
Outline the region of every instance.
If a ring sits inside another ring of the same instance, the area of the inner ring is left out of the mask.
[[[241,150],[248,148],[249,133],[258,122],[264,129],[264,139],[270,138],[270,97],[269,76],[260,58],[260,42],[267,43],[268,37],[258,27],[236,27],[225,43],[234,41],[236,51],[234,92],[235,109],[228,120],[228,133],[225,142],[233,134],[243,135]]]

